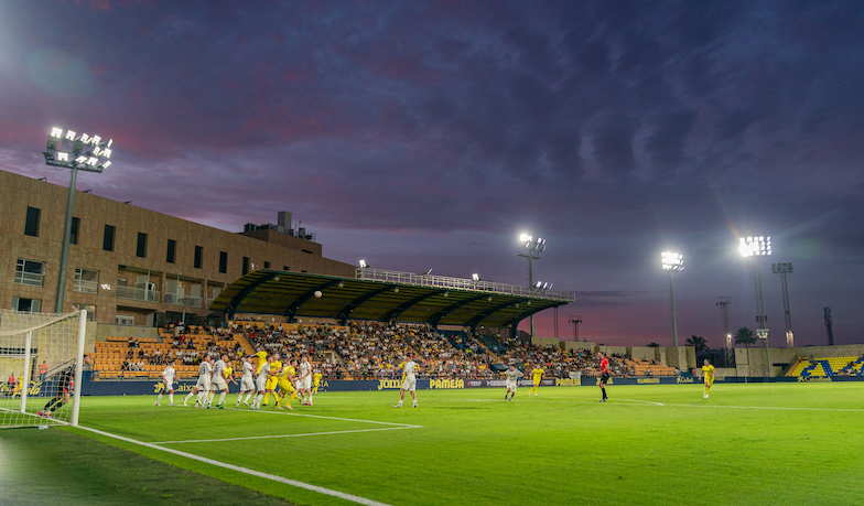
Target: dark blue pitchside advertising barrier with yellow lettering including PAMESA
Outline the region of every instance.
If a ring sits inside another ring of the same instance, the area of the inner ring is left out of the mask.
[[[717,378],[714,383],[765,383],[766,378],[745,378],[737,376],[728,376],[725,378]],[[820,381],[864,381],[864,376],[831,376],[822,378],[771,378],[770,383],[820,383]],[[593,387],[598,383],[598,378],[583,377],[580,379],[570,378],[554,378],[543,379],[541,386],[543,387]],[[692,385],[701,384],[699,378],[692,376],[662,376],[654,378],[612,378],[609,386],[616,385]],[[343,380],[333,379],[324,380],[318,387],[318,391],[363,391],[363,390],[398,390],[402,386],[399,379],[358,379],[358,380]],[[520,387],[532,387],[533,383],[530,379],[520,379]],[[195,380],[182,380],[174,383],[174,391],[176,394],[187,394],[195,387]],[[465,388],[504,388],[504,379],[418,379],[418,390],[457,390]],[[154,395],[162,391],[164,385],[159,380],[106,380],[93,381],[88,377],[84,378],[84,388],[82,395],[85,396],[141,396]],[[39,381],[32,381],[30,390],[34,396],[40,395]],[[237,385],[228,384],[228,391],[230,394],[238,394],[239,387]]]

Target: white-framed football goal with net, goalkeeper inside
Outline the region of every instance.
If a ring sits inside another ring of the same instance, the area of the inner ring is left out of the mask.
[[[78,424],[86,323],[0,310],[0,429]]]

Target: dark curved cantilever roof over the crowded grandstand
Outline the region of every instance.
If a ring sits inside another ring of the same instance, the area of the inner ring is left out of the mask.
[[[455,278],[419,277],[381,279],[260,269],[230,283],[210,304],[210,311],[348,320],[419,322],[436,325],[508,326],[549,308],[572,301],[572,294],[504,293],[493,283],[477,289],[425,281]],[[417,279],[415,279],[417,278]],[[439,286],[433,286],[439,284]],[[519,288],[529,292],[529,290]],[[321,298],[315,292],[322,293]]]

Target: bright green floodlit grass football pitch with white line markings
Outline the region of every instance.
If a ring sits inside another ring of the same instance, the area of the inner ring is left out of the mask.
[[[423,390],[419,409],[408,399],[395,409],[395,391],[325,392],[314,407],[295,402],[290,415],[272,407],[169,408],[166,398],[156,408],[153,396],[84,398],[80,420],[159,448],[389,505],[861,500],[861,384],[717,384],[710,399],[702,398],[701,385],[611,386],[607,403],[597,402],[594,387],[548,387],[531,398],[527,392],[522,388],[505,402],[504,389]],[[228,397],[230,407],[235,400]],[[237,504],[247,503],[240,500],[247,493],[302,505],[353,504],[84,430],[0,431],[0,451],[24,433],[36,440],[40,433],[82,434],[152,457],[160,470],[172,469],[166,462],[184,470],[169,473],[174,487],[179,482],[197,491],[195,480],[177,476],[199,473],[228,487],[218,494],[236,494]],[[126,480],[140,486],[141,473],[147,471],[129,467]],[[165,504],[195,503],[166,497],[176,500]]]

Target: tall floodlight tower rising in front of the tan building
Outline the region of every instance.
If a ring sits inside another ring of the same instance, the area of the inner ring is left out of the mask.
[[[63,228],[63,246],[60,255],[60,271],[57,272],[57,295],[54,299],[54,312],[63,312],[63,302],[66,295],[66,270],[69,263],[69,237],[72,236],[72,208],[75,205],[75,183],[78,171],[97,172],[108,169],[111,164],[111,144],[114,139],[102,142],[99,136],[80,136],[74,130],[63,131],[62,128],[52,128],[48,134],[45,163],[51,166],[72,170],[69,182],[69,196],[66,201],[66,225]]]

